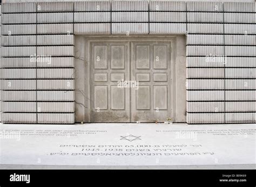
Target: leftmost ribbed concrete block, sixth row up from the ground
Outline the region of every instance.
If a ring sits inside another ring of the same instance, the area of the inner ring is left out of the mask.
[[[36,67],[35,57],[22,57],[22,58],[0,58],[0,67],[3,68],[24,68]]]

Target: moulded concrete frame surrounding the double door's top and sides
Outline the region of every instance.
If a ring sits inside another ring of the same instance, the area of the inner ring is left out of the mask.
[[[93,101],[93,98],[91,98],[90,95],[90,70],[91,70],[91,62],[90,62],[90,55],[91,55],[91,51],[90,51],[90,45],[93,42],[104,42],[104,41],[110,41],[110,42],[130,42],[130,41],[152,41],[152,42],[156,42],[156,41],[165,41],[165,42],[170,42],[171,45],[171,75],[172,75],[172,82],[171,82],[171,100],[172,100],[172,112],[171,112],[171,117],[173,118],[173,120],[176,119],[175,117],[175,108],[176,108],[176,67],[175,67],[175,59],[176,59],[176,44],[175,44],[175,36],[129,36],[129,37],[125,37],[125,36],[86,36],[84,38],[84,43],[85,43],[85,80],[84,80],[84,84],[85,84],[85,92],[84,92],[84,97],[85,97],[85,122],[91,122],[90,119],[90,102]],[[129,43],[129,47],[130,47],[130,55],[131,55],[131,42]],[[131,58],[130,58],[131,59]],[[131,65],[130,65],[131,66]],[[130,67],[131,68],[131,67]],[[131,110],[131,109],[130,109]]]

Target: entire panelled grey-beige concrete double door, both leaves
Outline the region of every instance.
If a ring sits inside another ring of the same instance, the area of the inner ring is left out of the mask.
[[[90,122],[173,117],[171,42],[90,43]]]

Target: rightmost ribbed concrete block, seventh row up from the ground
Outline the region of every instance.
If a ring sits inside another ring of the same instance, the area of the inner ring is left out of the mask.
[[[256,56],[256,46],[225,46],[227,56]]]

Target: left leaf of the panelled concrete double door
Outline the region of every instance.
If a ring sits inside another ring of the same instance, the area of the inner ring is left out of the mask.
[[[130,122],[130,90],[118,81],[129,79],[129,43],[104,42],[90,45],[91,122]]]

